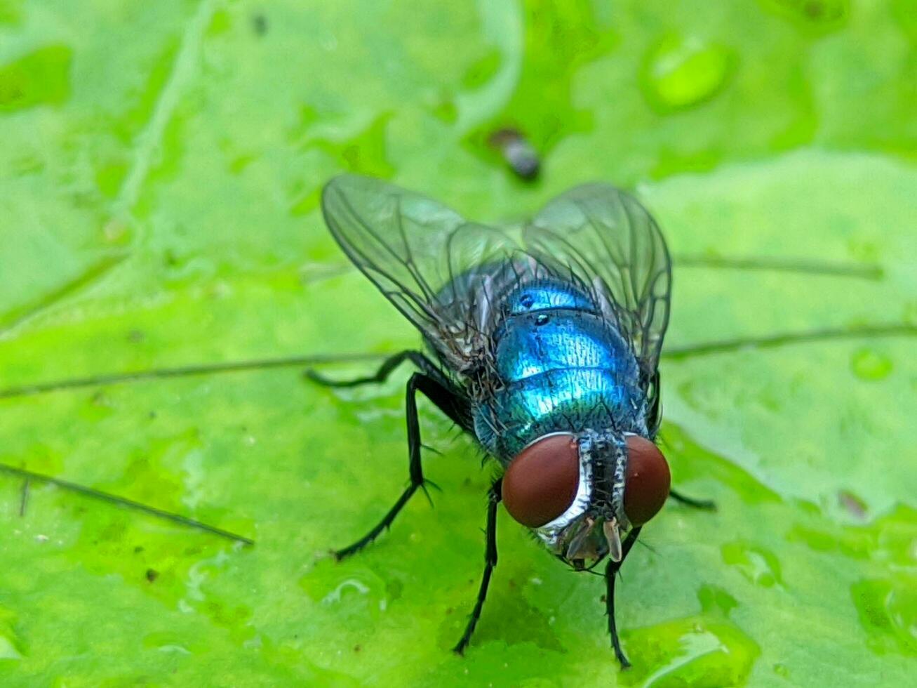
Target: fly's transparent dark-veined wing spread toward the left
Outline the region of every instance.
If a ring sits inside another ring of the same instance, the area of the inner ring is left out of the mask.
[[[348,258],[456,371],[483,347],[484,286],[517,244],[421,194],[344,174],[322,193],[325,222]]]

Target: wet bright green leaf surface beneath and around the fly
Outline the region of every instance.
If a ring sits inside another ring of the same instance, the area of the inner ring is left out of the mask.
[[[0,473],[3,685],[904,685],[917,671],[917,12],[908,0],[0,0],[0,387],[417,338],[349,268],[343,170],[492,222],[574,183],[634,188],[675,254],[662,363],[674,480],[619,586],[505,514],[422,409],[436,508],[325,552],[406,478],[403,383],[301,367],[0,398],[0,462],[254,547]],[[487,145],[542,155],[524,183]],[[740,270],[719,259],[862,271]],[[698,260],[702,259],[702,260]],[[28,489],[27,489],[28,488]],[[24,499],[24,495],[26,499]]]

